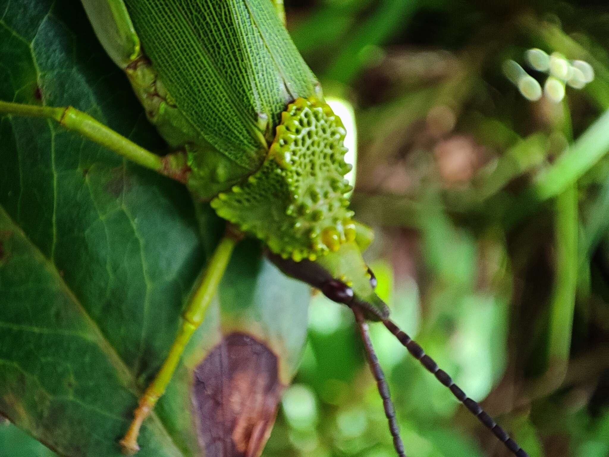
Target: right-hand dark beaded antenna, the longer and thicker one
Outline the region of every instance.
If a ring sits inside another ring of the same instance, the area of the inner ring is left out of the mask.
[[[415,359],[420,361],[426,370],[435,375],[438,381],[448,387],[452,392],[452,395],[454,395],[459,402],[463,403],[463,405],[465,405],[465,407],[469,409],[471,413],[485,425],[485,427],[491,430],[499,441],[505,444],[505,447],[507,447],[513,453],[513,455],[518,457],[529,457],[529,454],[527,454],[523,448],[521,448],[512,438],[510,438],[508,434],[505,433],[501,427],[499,427],[495,420],[493,420],[493,418],[490,417],[477,402],[470,399],[470,397],[465,395],[465,392],[463,392],[459,386],[457,386],[457,384],[452,382],[452,378],[444,370],[441,370],[440,367],[438,367],[438,364],[425,353],[423,348],[416,341],[401,331],[400,328],[390,319],[383,321],[383,324],[385,324],[387,330],[393,333],[401,344],[406,347],[408,352],[410,352]]]

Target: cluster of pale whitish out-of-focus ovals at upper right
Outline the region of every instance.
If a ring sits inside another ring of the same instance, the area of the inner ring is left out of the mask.
[[[594,79],[594,69],[590,63],[583,60],[567,60],[560,52],[552,52],[548,55],[541,49],[533,48],[524,53],[524,58],[527,66],[549,75],[543,91],[537,79],[530,76],[514,60],[504,62],[503,73],[518,87],[523,97],[533,102],[545,95],[552,102],[560,103],[565,97],[565,85],[581,89]]]

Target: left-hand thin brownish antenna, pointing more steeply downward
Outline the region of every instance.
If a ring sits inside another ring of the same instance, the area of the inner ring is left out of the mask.
[[[385,380],[385,375],[382,372],[375,349],[372,347],[370,335],[368,334],[368,324],[364,319],[364,314],[362,314],[362,311],[357,306],[352,306],[351,310],[353,310],[353,314],[355,314],[357,327],[362,336],[362,341],[364,341],[364,348],[366,350],[368,364],[370,365],[370,371],[375,377],[376,386],[379,389],[379,394],[381,394],[382,405],[385,409],[385,417],[387,417],[389,431],[393,437],[393,447],[395,447],[398,456],[406,457],[406,453],[404,453],[404,443],[400,437],[400,427],[398,427],[398,422],[395,419],[395,409],[393,408],[393,402],[391,401],[391,395],[389,394],[389,386]]]

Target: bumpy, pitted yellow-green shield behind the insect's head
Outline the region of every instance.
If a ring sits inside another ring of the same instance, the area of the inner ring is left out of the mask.
[[[211,202],[217,214],[294,261],[314,261],[354,241],[345,196],[345,128],[329,105],[299,98],[281,114],[262,167]]]

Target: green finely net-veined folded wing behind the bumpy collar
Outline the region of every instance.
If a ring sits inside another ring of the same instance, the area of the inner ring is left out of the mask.
[[[280,113],[317,88],[272,2],[125,4],[144,53],[186,119],[211,146],[257,169]]]

